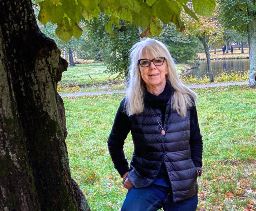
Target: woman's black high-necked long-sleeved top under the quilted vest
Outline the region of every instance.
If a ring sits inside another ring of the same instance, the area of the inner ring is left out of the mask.
[[[166,83],[164,91],[159,95],[145,91],[144,103],[151,107],[158,107],[162,111],[162,121],[164,121],[166,105],[173,95],[174,89],[170,83]],[[124,154],[124,142],[130,131],[129,117],[124,111],[124,100],[120,103],[117,110],[111,133],[108,137],[108,151],[114,163],[114,167],[120,176],[130,171],[127,159]],[[198,125],[198,115],[196,106],[190,108],[190,150],[191,159],[196,167],[202,166],[203,142]],[[161,167],[163,173],[163,166]],[[160,170],[161,171],[161,170]]]

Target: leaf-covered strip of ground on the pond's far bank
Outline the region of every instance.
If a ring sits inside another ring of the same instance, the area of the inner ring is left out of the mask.
[[[229,53],[226,53],[226,55],[223,55],[222,49],[216,50],[216,54],[214,54],[214,49],[212,49],[212,52],[210,53],[211,59],[246,59],[249,58],[249,48],[244,48],[244,53],[241,53],[241,49],[238,50],[238,48],[234,48],[233,54],[230,53],[230,50],[228,50]],[[206,60],[205,53],[198,53],[200,60]]]

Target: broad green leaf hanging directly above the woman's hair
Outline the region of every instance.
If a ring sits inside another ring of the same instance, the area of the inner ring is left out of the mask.
[[[132,21],[136,26],[146,28],[150,24],[152,11],[151,8],[145,2],[141,4],[141,11],[142,12],[140,13],[132,13]]]

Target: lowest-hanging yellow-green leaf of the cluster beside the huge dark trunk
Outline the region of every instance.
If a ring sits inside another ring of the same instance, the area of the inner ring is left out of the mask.
[[[73,28],[70,26],[67,17],[63,18],[61,24],[58,25],[57,29],[55,30],[55,33],[59,39],[65,41],[66,43],[71,39],[73,36]]]

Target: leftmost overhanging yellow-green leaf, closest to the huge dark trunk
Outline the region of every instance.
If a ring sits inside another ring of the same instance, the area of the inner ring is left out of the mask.
[[[53,3],[50,0],[44,0],[39,2],[40,11],[38,14],[38,20],[45,25],[52,18]]]

